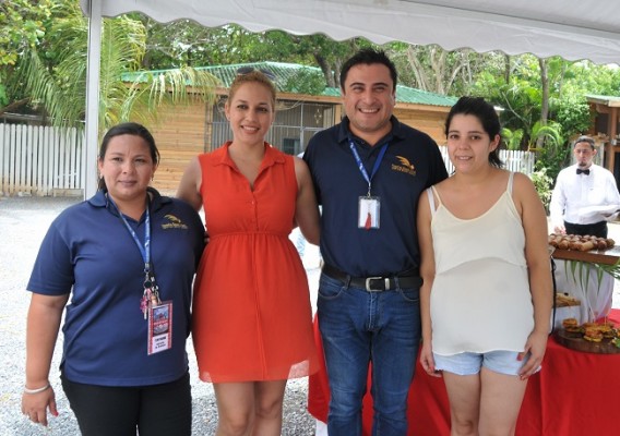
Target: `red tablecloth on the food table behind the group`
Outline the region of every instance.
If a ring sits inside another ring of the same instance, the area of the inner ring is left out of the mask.
[[[620,310],[609,320],[620,325]],[[317,343],[321,346],[318,324]],[[322,353],[322,347],[320,347]],[[394,362],[394,364],[398,364]],[[370,380],[369,380],[370,385]],[[370,390],[370,389],[369,389]],[[330,388],[323,367],[310,376],[308,410],[327,420]],[[418,361],[408,397],[408,436],[449,436],[450,409],[442,378],[426,374]],[[620,434],[620,353],[573,351],[549,337],[540,373],[532,376],[516,424],[517,436],[584,436]],[[372,398],[363,398],[363,434],[370,435]]]

